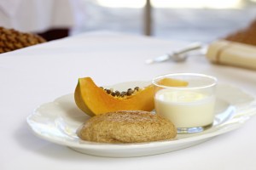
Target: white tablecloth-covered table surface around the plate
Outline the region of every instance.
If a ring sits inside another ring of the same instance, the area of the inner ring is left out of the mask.
[[[38,105],[73,93],[79,77],[111,85],[172,72],[197,72],[256,96],[255,71],[212,65],[199,55],[183,63],[144,63],[183,44],[98,31],[1,54],[0,169],[255,169],[255,117],[235,131],[193,147],[131,158],[81,154],[39,139],[28,127],[26,116]]]

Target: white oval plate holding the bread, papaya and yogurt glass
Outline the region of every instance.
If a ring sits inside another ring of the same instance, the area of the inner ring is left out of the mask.
[[[123,90],[135,86],[143,87],[145,84],[147,82],[125,82],[113,88]],[[161,154],[200,144],[241,127],[255,114],[256,102],[253,96],[244,93],[240,88],[218,85],[213,126],[201,133],[177,134],[177,138],[172,140],[140,144],[101,144],[83,141],[77,136],[76,130],[89,116],[75,105],[73,94],[40,105],[27,117],[27,122],[38,137],[55,144],[94,156],[131,157]]]

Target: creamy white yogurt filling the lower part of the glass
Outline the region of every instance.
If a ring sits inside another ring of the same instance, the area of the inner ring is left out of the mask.
[[[176,127],[204,127],[214,118],[215,96],[200,92],[161,89],[154,96],[155,111]]]

